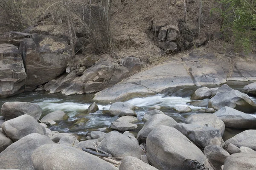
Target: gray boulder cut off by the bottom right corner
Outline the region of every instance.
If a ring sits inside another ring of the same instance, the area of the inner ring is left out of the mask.
[[[228,156],[223,170],[255,170],[256,153],[235,153]]]

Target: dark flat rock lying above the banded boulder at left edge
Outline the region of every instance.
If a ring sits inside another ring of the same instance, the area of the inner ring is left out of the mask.
[[[25,32],[10,31],[0,36],[1,41],[8,44],[20,45],[24,38],[30,38],[31,34]]]

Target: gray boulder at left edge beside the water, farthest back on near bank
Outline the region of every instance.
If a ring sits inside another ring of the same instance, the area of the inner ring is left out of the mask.
[[[5,120],[14,119],[23,114],[27,114],[38,120],[42,115],[42,108],[34,103],[28,102],[5,102],[1,108],[1,114]]]

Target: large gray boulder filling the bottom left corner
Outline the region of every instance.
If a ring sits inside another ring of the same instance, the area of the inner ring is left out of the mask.
[[[53,143],[49,137],[38,133],[29,134],[11,144],[0,153],[1,168],[16,168],[20,170],[36,170],[32,164],[31,155],[43,144]]]

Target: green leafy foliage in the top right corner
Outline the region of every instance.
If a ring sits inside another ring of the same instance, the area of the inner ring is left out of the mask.
[[[219,4],[214,10],[221,14],[225,40],[233,41],[237,52],[250,51],[256,40],[256,0],[219,0]]]

